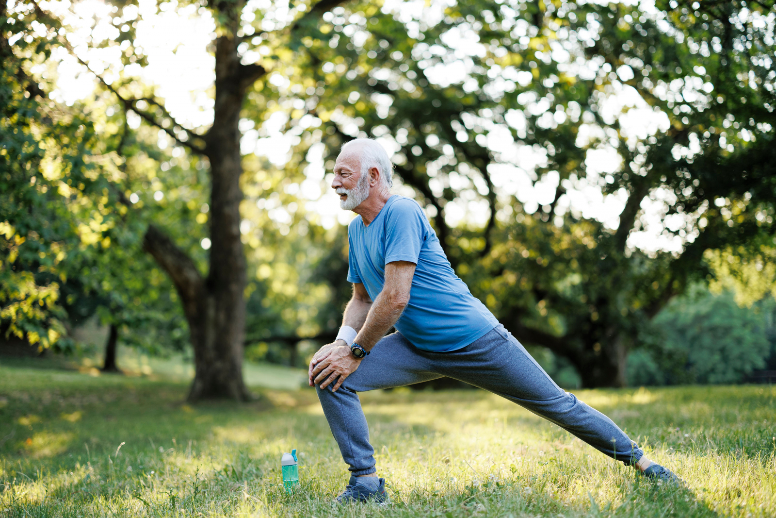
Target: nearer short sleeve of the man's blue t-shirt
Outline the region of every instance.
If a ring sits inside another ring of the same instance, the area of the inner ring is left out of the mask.
[[[386,220],[385,262],[409,261],[417,264],[426,237],[425,214],[413,200],[397,200]]]

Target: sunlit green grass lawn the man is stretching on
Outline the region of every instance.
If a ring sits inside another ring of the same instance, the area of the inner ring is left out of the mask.
[[[314,391],[190,406],[186,388],[0,360],[0,516],[776,516],[769,386],[577,391],[686,487],[483,391],[364,394],[385,507],[331,503],[347,472]]]

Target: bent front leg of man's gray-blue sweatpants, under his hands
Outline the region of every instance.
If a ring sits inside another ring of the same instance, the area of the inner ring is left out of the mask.
[[[324,408],[331,433],[352,475],[370,475],[376,471],[374,449],[369,443],[369,427],[358,393],[376,388],[403,387],[441,377],[428,367],[428,360],[420,356],[404,336],[395,332],[377,342],[369,356],[336,392],[331,391],[334,383],[324,390],[316,385],[320,406]]]

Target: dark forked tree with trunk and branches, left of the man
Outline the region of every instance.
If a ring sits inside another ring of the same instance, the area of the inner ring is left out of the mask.
[[[196,367],[189,392],[192,401],[250,398],[241,370],[246,262],[240,232],[243,166],[238,121],[248,89],[265,75],[266,68],[258,63],[242,63],[243,47],[261,43],[262,39],[284,40],[293,46],[300,30],[309,26],[310,20],[337,4],[333,0],[323,0],[310,9],[304,4],[297,5],[293,12],[299,16],[290,20],[291,23],[274,33],[262,33],[251,39],[255,28],[241,19],[245,18],[242,15],[246,2],[206,2],[204,6],[210,9],[217,22],[217,38],[213,42],[214,118],[209,128],[187,128],[178,124],[161,99],[147,94],[147,86],[126,75],[118,81],[98,75],[103,88],[119,99],[125,116],[137,114],[144,123],[164,131],[172,141],[209,166],[210,261],[207,275],[200,273],[196,260],[161,227],[151,224],[144,233],[144,249],[175,284],[189,323]],[[119,14],[115,17],[119,26],[113,27],[115,37],[103,42],[102,46],[118,47],[126,41],[130,43],[130,49],[122,54],[125,64],[142,63],[143,55],[133,45],[137,9],[131,3],[121,2],[113,10]],[[43,13],[37,5],[36,12]],[[38,21],[43,23],[48,19],[47,15],[39,18]],[[248,43],[249,40],[254,43]],[[66,38],[60,38],[58,43],[76,54]],[[271,59],[265,61],[272,62]],[[81,62],[88,66],[86,61]]]

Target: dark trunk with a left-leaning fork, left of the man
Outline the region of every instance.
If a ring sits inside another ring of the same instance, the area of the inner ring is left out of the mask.
[[[251,399],[242,377],[246,263],[240,238],[242,163],[237,123],[246,89],[265,73],[243,65],[233,35],[216,42],[216,99],[213,126],[204,137],[210,159],[210,271],[203,280],[189,256],[153,226],[145,248],[175,282],[189,322],[194,381],[189,401]]]

